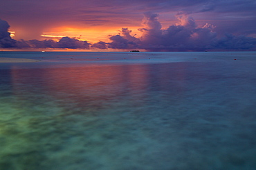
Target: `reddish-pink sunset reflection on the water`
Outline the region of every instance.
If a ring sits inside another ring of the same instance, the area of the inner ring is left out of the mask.
[[[173,67],[173,65],[171,65]],[[179,96],[184,84],[183,65],[178,71],[170,65],[104,65],[12,70],[14,93],[51,96],[63,105],[114,107],[121,102],[127,107],[150,105],[157,96]],[[170,70],[171,69],[171,70]],[[171,72],[174,71],[174,72]],[[152,98],[154,96],[154,99]],[[159,100],[159,99],[158,99]]]

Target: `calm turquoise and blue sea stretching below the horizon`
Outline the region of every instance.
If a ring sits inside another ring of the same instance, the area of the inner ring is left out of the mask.
[[[255,170],[256,52],[0,52],[1,170]]]

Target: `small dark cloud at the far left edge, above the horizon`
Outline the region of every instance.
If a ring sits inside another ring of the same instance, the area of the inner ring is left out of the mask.
[[[10,25],[0,19],[0,47],[16,47],[16,41],[10,37],[10,33],[8,32],[9,28]]]

